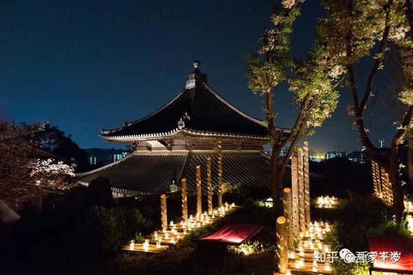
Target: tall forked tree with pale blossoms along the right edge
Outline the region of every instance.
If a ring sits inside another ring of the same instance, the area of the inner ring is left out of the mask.
[[[413,86],[405,83],[404,89],[399,94],[401,102],[406,105],[406,111],[397,123],[388,154],[383,154],[370,141],[363,114],[373,94],[377,72],[383,68],[383,60],[390,43],[399,46],[404,56],[403,72],[410,74],[413,70],[413,63],[410,61],[412,39],[405,35],[410,30],[405,14],[405,1],[324,0],[322,4],[326,10],[326,17],[319,23],[321,40],[326,45],[330,59],[346,66],[348,87],[352,92],[352,104],[348,110],[354,116],[355,126],[366,154],[389,173],[392,182],[394,214],[397,223],[400,224],[404,205],[397,154],[399,145],[412,123],[413,90],[410,87]],[[373,59],[365,85],[360,83],[361,81],[354,75],[354,66],[364,57]]]

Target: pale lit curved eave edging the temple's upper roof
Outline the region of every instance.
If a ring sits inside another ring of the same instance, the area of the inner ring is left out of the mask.
[[[284,131],[284,130],[283,130]],[[285,131],[284,131],[285,132]],[[174,129],[169,132],[154,133],[154,134],[132,134],[125,136],[106,136],[105,134],[100,134],[103,139],[118,143],[128,143],[133,141],[148,141],[148,140],[158,140],[158,139],[171,139],[179,134],[184,134],[187,136],[195,136],[200,138],[221,138],[221,139],[251,139],[255,141],[269,141],[270,136],[255,136],[250,134],[233,134],[233,133],[221,133],[221,132],[209,132],[209,131],[199,131],[192,130],[189,128],[184,129]]]

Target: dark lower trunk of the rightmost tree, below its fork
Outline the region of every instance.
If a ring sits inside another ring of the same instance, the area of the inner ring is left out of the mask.
[[[401,218],[403,217],[403,187],[401,186],[401,179],[399,176],[399,161],[398,161],[398,146],[392,146],[389,152],[388,173],[390,182],[392,184],[393,193],[393,211],[396,216],[397,225],[401,225]]]

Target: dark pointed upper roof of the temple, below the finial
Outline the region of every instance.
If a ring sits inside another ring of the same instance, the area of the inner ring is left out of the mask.
[[[181,121],[180,124],[178,121]],[[191,134],[224,133],[226,136],[261,139],[268,137],[265,123],[225,101],[206,81],[196,81],[195,85],[180,92],[149,116],[138,121],[125,122],[121,128],[102,130],[100,135],[109,141],[126,141],[148,137],[171,137],[185,130]]]

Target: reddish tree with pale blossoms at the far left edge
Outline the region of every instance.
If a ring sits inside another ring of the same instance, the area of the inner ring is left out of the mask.
[[[44,189],[67,189],[73,166],[53,160],[30,158],[28,140],[43,129],[43,124],[16,125],[0,121],[0,198],[17,209],[33,192]]]

